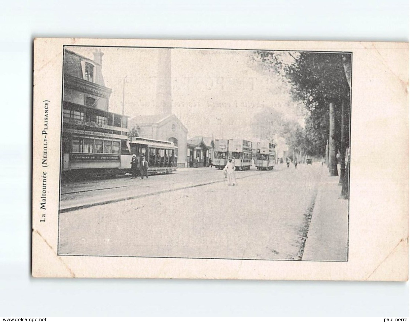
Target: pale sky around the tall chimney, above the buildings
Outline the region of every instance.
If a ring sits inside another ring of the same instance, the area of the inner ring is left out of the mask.
[[[69,47],[89,59],[96,47]],[[112,89],[109,110],[125,115],[154,114],[158,48],[102,47],[105,86]],[[167,50],[167,49],[165,49]],[[171,97],[174,113],[188,129],[188,137],[254,139],[253,115],[274,108],[286,119],[303,125],[299,102],[289,85],[252,60],[245,50],[171,50]]]

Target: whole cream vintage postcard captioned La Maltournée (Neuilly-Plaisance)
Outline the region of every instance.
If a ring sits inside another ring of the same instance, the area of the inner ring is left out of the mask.
[[[32,275],[408,279],[408,43],[36,38]]]

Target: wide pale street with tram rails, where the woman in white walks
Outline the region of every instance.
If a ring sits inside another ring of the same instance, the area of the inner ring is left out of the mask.
[[[153,194],[61,213],[59,253],[301,259],[321,171],[320,164],[238,171],[237,187],[220,181],[222,171],[211,168],[65,185],[63,193],[102,190],[63,195],[62,203],[75,196],[84,202],[116,198],[125,191]],[[197,183],[205,185],[181,188]],[[178,190],[161,192],[173,187]]]

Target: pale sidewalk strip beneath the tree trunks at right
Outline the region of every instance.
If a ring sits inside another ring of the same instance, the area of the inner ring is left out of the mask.
[[[339,176],[330,177],[323,165],[304,261],[347,261],[348,200],[339,199],[342,186],[338,183]]]

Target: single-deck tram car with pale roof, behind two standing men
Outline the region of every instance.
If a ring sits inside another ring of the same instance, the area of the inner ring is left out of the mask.
[[[137,155],[138,164],[141,164],[142,157],[148,161],[149,174],[166,174],[176,171],[178,148],[173,142],[134,137],[130,148],[131,154]],[[131,159],[128,163],[131,164]]]

